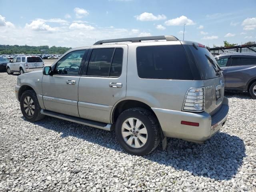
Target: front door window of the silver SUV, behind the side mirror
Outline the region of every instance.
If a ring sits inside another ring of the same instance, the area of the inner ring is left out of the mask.
[[[86,50],[77,50],[66,54],[56,64],[54,74],[78,75],[85,52]]]

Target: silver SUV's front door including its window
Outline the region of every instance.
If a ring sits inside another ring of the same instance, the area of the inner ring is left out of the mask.
[[[69,52],[52,66],[52,76],[43,76],[42,90],[46,110],[79,117],[78,83],[84,64],[82,58],[86,53],[85,49]]]

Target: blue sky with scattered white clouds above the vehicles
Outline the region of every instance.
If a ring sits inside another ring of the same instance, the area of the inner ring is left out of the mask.
[[[0,0],[0,44],[90,46],[173,35],[206,46],[256,41],[256,0]]]

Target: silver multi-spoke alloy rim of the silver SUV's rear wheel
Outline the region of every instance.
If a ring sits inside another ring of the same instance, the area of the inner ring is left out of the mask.
[[[148,140],[148,131],[139,119],[128,118],[122,124],[122,137],[129,146],[141,148]]]

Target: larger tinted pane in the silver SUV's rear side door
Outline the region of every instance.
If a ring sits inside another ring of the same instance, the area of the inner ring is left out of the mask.
[[[115,48],[93,49],[88,64],[87,75],[109,76]]]

